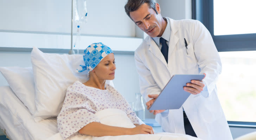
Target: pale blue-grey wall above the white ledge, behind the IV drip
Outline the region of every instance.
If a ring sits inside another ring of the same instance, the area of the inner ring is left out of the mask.
[[[1,0],[0,30],[71,33],[71,1]],[[135,25],[124,12],[126,1],[87,0],[88,22],[81,33],[135,36]]]

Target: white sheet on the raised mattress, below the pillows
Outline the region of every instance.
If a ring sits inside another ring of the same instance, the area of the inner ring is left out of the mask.
[[[0,97],[0,127],[11,140],[46,140],[58,133],[56,118],[35,123],[9,86],[0,87]]]

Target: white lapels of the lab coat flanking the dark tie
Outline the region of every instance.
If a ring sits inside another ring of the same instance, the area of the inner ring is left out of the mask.
[[[167,20],[170,21],[170,26],[171,26],[171,36],[170,36],[170,40],[169,40],[169,50],[168,50],[168,59],[169,59],[169,56],[171,55],[175,45],[179,41],[179,37],[175,35],[175,33],[179,30],[179,28],[178,28],[179,26],[174,25],[174,20],[173,19],[167,18]],[[160,59],[160,61],[163,64],[165,64],[166,68],[168,69],[168,65],[166,63],[166,60],[165,60],[164,56],[162,55],[161,50],[156,45],[155,41],[150,36],[147,39],[148,39],[147,40],[147,45],[149,45],[148,50],[151,51],[156,58]]]

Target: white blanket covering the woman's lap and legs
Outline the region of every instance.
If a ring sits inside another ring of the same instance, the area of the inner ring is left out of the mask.
[[[119,109],[105,109],[95,114],[102,124],[133,128],[135,125],[127,117],[125,112]],[[137,135],[119,135],[92,137],[84,135],[83,137],[73,137],[72,140],[200,140],[190,135],[174,134],[174,133],[156,133],[156,134],[137,134]],[[53,135],[47,140],[63,140],[59,133]]]

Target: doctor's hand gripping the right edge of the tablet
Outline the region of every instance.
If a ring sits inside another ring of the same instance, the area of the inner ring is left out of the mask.
[[[206,76],[205,73],[204,75]],[[186,86],[183,87],[183,89],[186,92],[196,95],[196,94],[199,94],[201,91],[203,91],[204,83],[203,81],[199,81],[199,80],[191,80],[191,83],[187,83]]]

